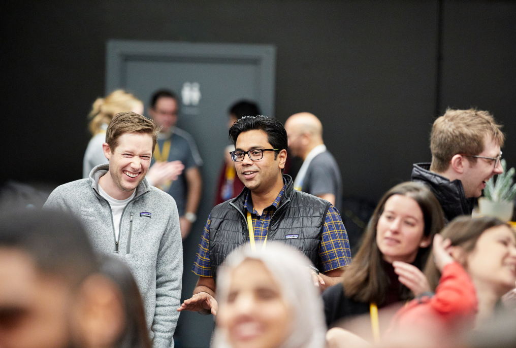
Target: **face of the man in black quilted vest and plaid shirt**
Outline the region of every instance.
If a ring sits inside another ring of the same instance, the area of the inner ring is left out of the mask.
[[[235,151],[273,148],[262,130],[241,132],[236,139]],[[285,156],[276,156],[274,151],[264,151],[262,159],[252,161],[246,153],[244,160],[235,162],[238,178],[252,192],[267,192],[282,178],[281,170],[285,168]]]

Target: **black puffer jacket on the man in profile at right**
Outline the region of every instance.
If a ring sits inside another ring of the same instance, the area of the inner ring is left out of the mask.
[[[441,203],[444,216],[448,221],[459,215],[471,215],[475,199],[466,198],[459,179],[450,181],[442,175],[430,172],[430,163],[415,163],[411,179],[430,187]]]

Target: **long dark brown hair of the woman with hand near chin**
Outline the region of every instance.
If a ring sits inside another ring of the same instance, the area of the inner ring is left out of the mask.
[[[433,239],[433,236],[444,227],[444,213],[436,196],[428,187],[421,183],[402,183],[396,185],[383,195],[366,227],[362,246],[351,264],[343,273],[343,286],[346,296],[360,302],[373,302],[381,305],[389,293],[391,282],[382,267],[383,255],[376,244],[376,226],[380,219],[385,202],[393,195],[400,194],[412,198],[420,206],[424,219],[424,236]],[[431,250],[428,247],[419,248],[412,263],[422,270]],[[400,288],[402,300],[410,299],[411,291],[404,285]]]

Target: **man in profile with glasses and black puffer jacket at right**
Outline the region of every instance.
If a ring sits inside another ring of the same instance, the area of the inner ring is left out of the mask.
[[[433,123],[431,163],[416,163],[412,180],[428,185],[448,221],[470,215],[487,181],[503,173],[504,134],[488,111],[453,110]]]

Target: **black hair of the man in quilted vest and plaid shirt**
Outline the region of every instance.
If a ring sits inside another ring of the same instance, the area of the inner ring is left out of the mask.
[[[241,132],[249,130],[262,130],[267,134],[267,141],[273,147],[278,149],[275,152],[274,159],[281,150],[287,149],[287,132],[280,121],[265,116],[246,116],[236,121],[229,129],[229,138],[236,146],[236,139]]]

